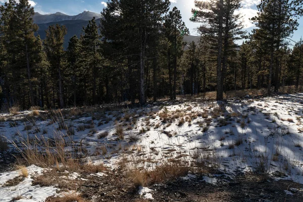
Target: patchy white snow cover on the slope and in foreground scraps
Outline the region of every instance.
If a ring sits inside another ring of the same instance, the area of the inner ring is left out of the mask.
[[[64,136],[70,142],[67,150],[81,145],[85,161],[112,169],[124,158],[148,160],[133,166],[150,169],[168,159],[186,159],[206,162],[228,176],[262,171],[303,184],[303,93],[232,99],[224,108],[197,98],[105,113],[73,109],[56,116],[43,111],[36,117],[30,111],[0,114],[0,134],[17,145],[23,139]],[[28,170],[40,172],[34,166]],[[42,201],[56,193],[55,187],[31,186],[31,172],[19,185],[3,186],[17,175],[0,174],[0,201],[18,194],[24,196],[19,201]],[[152,198],[146,190],[139,194]]]

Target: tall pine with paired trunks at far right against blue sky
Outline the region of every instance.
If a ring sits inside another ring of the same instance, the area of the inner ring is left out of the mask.
[[[297,29],[297,18],[303,15],[302,0],[262,0],[258,5],[258,16],[251,20],[258,29],[254,34],[260,40],[264,40],[270,53],[270,65],[268,74],[267,93],[271,94],[272,75],[275,68],[275,91],[279,88],[279,62],[275,53],[279,51],[284,40]],[[276,64],[275,63],[276,59]],[[275,67],[274,67],[275,65]]]

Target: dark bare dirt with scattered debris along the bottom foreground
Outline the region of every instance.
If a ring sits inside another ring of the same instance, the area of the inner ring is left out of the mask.
[[[122,173],[109,172],[103,177],[81,177],[87,181],[83,181],[77,191],[87,201],[148,201],[140,198],[138,190]],[[216,184],[207,183],[203,176],[198,176],[190,180],[178,178],[148,188],[154,190],[151,192],[153,201],[303,201],[303,185],[288,180],[275,181],[251,173],[239,174],[234,179],[221,175],[217,177]],[[293,195],[286,195],[284,190],[290,190]],[[47,201],[56,200],[49,197]]]

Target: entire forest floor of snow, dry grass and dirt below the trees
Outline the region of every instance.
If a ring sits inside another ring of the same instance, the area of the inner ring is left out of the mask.
[[[303,93],[3,113],[0,201],[303,201],[302,132]]]

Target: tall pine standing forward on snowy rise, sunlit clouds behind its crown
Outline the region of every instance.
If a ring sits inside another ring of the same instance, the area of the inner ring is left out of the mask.
[[[201,23],[200,34],[208,37],[217,52],[217,100],[223,100],[226,60],[233,49],[230,40],[243,35],[241,16],[235,13],[240,8],[240,0],[196,1],[195,7],[198,10],[192,10],[196,15],[191,21]]]

